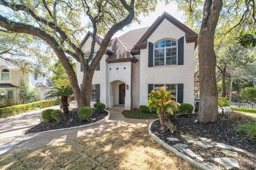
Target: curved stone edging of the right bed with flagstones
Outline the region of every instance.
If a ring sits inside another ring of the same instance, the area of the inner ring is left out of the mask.
[[[157,121],[158,119],[154,120]],[[166,148],[167,150],[172,151],[172,153],[174,153],[176,156],[179,156],[180,158],[182,158],[183,160],[185,160],[186,162],[189,162],[190,164],[192,164],[192,166],[195,166],[196,168],[200,168],[202,170],[211,170],[210,168],[208,168],[207,166],[204,166],[203,164],[200,164],[199,162],[191,159],[190,157],[182,154],[181,152],[179,152],[177,149],[173,148],[172,146],[168,145],[167,143],[165,143],[163,140],[161,140],[160,138],[158,138],[158,136],[156,136],[155,134],[153,134],[150,130],[152,123],[154,122],[152,121],[149,126],[148,126],[148,134],[149,136],[156,141],[158,144],[164,146],[164,148]]]

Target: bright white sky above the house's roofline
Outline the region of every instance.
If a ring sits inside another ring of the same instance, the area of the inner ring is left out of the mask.
[[[158,16],[161,16],[164,11],[168,12],[170,15],[172,15],[174,18],[176,18],[180,22],[182,22],[182,23],[185,22],[185,20],[182,20],[183,12],[181,12],[181,11],[178,12],[176,4],[170,3],[170,4],[165,6],[164,2],[158,2],[157,6],[156,6],[155,12],[152,12],[147,17],[144,17],[144,16],[140,16],[139,17],[139,19],[141,20],[141,24],[140,25],[134,23],[129,28],[125,27],[123,29],[123,31],[117,32],[113,36],[113,38],[122,36],[123,34],[125,34],[126,32],[128,32],[130,30],[136,30],[136,29],[139,29],[139,28],[144,28],[144,27],[151,26],[153,24],[153,22],[156,20],[156,18]]]

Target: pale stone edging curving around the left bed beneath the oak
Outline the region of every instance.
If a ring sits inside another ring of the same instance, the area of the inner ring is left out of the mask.
[[[105,111],[107,111],[106,109],[104,109]],[[30,134],[23,134],[22,136],[20,136],[19,138],[16,138],[13,142],[11,142],[10,144],[7,144],[6,146],[4,146],[3,148],[0,149],[0,155],[4,154],[5,152],[7,152],[8,150],[10,150],[13,146],[15,146],[16,144],[18,144],[19,142],[21,142],[22,140],[24,140],[25,138],[27,138],[28,136],[32,135],[32,134],[39,134],[39,133],[45,133],[45,132],[55,132],[55,131],[60,131],[60,130],[69,130],[69,129],[74,129],[74,128],[82,128],[82,127],[90,127],[93,125],[98,125],[101,124],[105,121],[108,121],[108,119],[110,119],[110,112],[108,112],[108,115],[106,117],[104,117],[103,119],[101,119],[98,122],[94,122],[94,123],[90,123],[90,124],[86,124],[86,125],[80,125],[78,127],[70,127],[70,128],[61,128],[61,129],[55,129],[55,130],[48,130],[48,131],[43,131],[43,132],[37,132],[37,133],[30,133]]]

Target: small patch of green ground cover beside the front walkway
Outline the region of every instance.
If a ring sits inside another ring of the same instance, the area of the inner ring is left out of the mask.
[[[126,118],[132,118],[132,119],[158,119],[158,115],[156,113],[143,113],[139,109],[135,109],[132,111],[123,111],[122,114]]]

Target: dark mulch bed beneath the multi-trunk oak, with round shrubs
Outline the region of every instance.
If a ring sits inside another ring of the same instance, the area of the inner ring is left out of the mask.
[[[86,125],[86,124],[100,121],[101,119],[104,119],[108,115],[107,111],[100,112],[100,111],[94,109],[92,116],[88,120],[82,121],[78,117],[77,112],[78,112],[78,109],[70,110],[68,114],[66,114],[66,115],[64,114],[62,116],[62,120],[60,123],[57,123],[56,120],[53,120],[51,122],[43,121],[43,122],[39,123],[38,125],[27,130],[25,132],[25,134],[31,134],[31,133],[43,132],[43,131],[47,131],[47,130],[56,130],[56,129],[61,129],[61,128],[70,128],[70,127],[77,127],[80,125]]]

